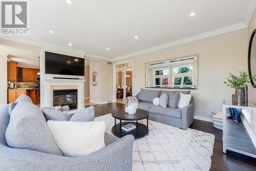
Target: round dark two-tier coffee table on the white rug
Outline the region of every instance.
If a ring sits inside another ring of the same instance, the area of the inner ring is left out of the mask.
[[[121,138],[125,135],[132,134],[134,138],[137,139],[148,135],[148,112],[141,109],[137,109],[135,114],[129,115],[123,109],[118,109],[112,112],[112,116],[115,118],[115,125],[112,127],[112,133],[115,136]],[[120,123],[116,124],[116,119],[120,120]],[[146,119],[146,125],[138,123],[138,120],[142,119]],[[122,120],[129,122],[122,122]],[[122,130],[122,126],[129,123],[136,125],[136,129],[127,132]]]

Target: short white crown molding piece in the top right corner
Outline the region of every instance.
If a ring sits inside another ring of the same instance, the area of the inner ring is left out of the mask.
[[[246,5],[242,23],[248,26],[256,8],[256,0],[249,0]]]

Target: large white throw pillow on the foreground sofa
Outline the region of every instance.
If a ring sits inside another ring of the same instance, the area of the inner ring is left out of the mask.
[[[47,125],[64,156],[82,157],[105,146],[104,121],[73,122],[48,120]]]

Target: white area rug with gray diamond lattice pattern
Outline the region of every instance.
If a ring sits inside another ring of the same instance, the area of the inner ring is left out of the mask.
[[[113,135],[115,119],[111,114],[95,120],[105,121],[106,132]],[[139,122],[146,124],[145,119]],[[133,171],[210,169],[214,135],[193,129],[181,130],[152,120],[148,120],[148,127],[148,135],[134,141]]]

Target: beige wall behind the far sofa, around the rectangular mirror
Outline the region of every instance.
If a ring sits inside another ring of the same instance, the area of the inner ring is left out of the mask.
[[[241,29],[115,62],[134,60],[136,94],[144,88],[145,62],[198,54],[198,90],[191,90],[195,115],[211,118],[211,112],[221,111],[222,99],[231,99],[234,93],[223,84],[224,78],[247,70],[247,42],[248,29]]]

